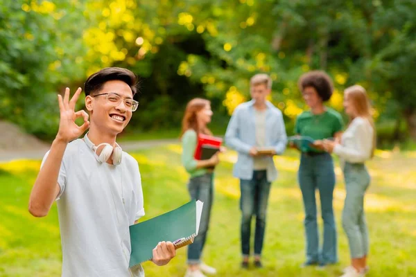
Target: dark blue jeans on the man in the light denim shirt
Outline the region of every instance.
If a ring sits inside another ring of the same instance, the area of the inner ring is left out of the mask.
[[[241,251],[243,257],[250,256],[250,234],[252,217],[256,216],[254,232],[254,256],[261,256],[264,231],[266,230],[266,211],[270,182],[267,181],[266,170],[254,170],[251,180],[240,180],[241,199]]]

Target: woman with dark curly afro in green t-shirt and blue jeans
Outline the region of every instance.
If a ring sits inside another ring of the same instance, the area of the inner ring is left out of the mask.
[[[297,117],[295,133],[311,136],[315,140],[313,150],[302,152],[298,180],[305,211],[306,261],[303,266],[338,262],[336,224],[333,216],[333,188],[335,173],[331,154],[324,152],[323,139],[337,139],[343,129],[343,120],[338,112],[326,107],[333,91],[331,78],[323,71],[311,71],[298,82],[302,96],[309,106]],[[315,190],[319,190],[321,215],[324,220],[324,235],[320,249]]]

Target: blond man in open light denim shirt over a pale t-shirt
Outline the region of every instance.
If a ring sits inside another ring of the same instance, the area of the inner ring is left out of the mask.
[[[266,229],[266,211],[270,184],[277,178],[274,154],[286,148],[286,129],[281,111],[266,100],[272,80],[257,74],[250,80],[252,100],[236,107],[225,133],[225,142],[239,152],[234,177],[240,179],[242,267],[248,268],[250,257],[250,223],[256,217],[254,233],[254,265],[262,267],[261,250]],[[270,147],[272,154],[261,155],[257,148]]]

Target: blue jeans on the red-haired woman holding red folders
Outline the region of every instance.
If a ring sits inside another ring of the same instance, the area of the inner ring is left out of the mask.
[[[191,178],[189,180],[188,190],[191,199],[200,200],[204,203],[198,235],[193,240],[193,244],[189,244],[188,247],[188,265],[199,265],[202,249],[207,240],[209,217],[211,216],[211,206],[214,200],[212,173]]]

